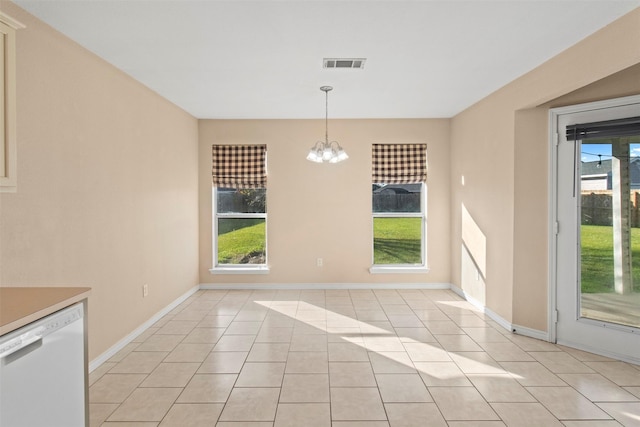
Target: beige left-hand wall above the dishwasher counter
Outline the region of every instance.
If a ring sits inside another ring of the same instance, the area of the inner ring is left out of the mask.
[[[198,283],[197,120],[12,3],[2,11],[27,28],[0,285],[92,287],[94,359]]]

